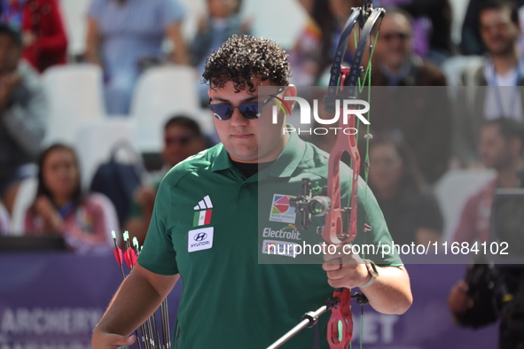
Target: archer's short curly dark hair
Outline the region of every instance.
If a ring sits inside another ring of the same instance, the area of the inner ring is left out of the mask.
[[[277,43],[263,37],[233,35],[206,61],[202,77],[212,88],[222,89],[232,81],[235,89],[254,92],[254,78],[277,86],[289,84],[288,55]]]

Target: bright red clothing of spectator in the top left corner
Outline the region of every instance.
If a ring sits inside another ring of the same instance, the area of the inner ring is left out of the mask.
[[[24,47],[23,57],[39,72],[49,66],[65,64],[67,37],[57,0],[27,0],[23,9],[18,11],[23,11],[20,28],[22,35],[35,35],[35,42]],[[9,22],[7,24],[17,25]]]

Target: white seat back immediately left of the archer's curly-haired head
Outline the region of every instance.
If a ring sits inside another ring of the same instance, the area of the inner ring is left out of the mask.
[[[162,128],[169,117],[199,112],[196,75],[196,70],[189,66],[160,66],[140,76],[130,116],[135,123],[135,143],[139,151],[160,151]]]

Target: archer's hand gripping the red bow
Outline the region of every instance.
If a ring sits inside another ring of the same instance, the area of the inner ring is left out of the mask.
[[[334,288],[352,289],[370,281],[371,275],[364,260],[356,253],[349,254],[349,251],[348,245],[339,244],[334,253],[324,255],[322,268],[327,272],[327,282]]]

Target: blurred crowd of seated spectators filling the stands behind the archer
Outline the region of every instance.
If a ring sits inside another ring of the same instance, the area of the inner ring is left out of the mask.
[[[295,45],[288,48],[292,82],[322,86],[341,26],[351,6],[361,2],[296,1],[309,19]],[[61,235],[75,252],[110,249],[111,230],[129,230],[142,243],[162,176],[211,145],[209,135],[202,133],[203,125],[191,114],[166,120],[163,166],[138,187],[129,202],[129,215],[119,227],[113,203],[82,189],[74,151],[74,146],[82,144],[56,143],[43,149],[48,112],[39,73],[66,64],[67,38],[59,2],[35,3],[29,9],[25,2],[0,0],[0,233],[20,233],[11,231],[10,214],[20,182],[35,177],[35,200],[24,216],[27,235]],[[208,54],[231,35],[252,32],[250,20],[241,15],[240,0],[206,3],[207,14],[199,19],[190,42],[182,34],[187,14],[179,0],[92,0],[86,13],[83,61],[100,66],[104,73],[107,115],[129,114],[133,90],[146,69],[191,64],[201,71]],[[375,54],[365,58],[373,64],[371,85],[377,89],[372,98],[384,101],[371,104],[371,134],[375,136],[369,150],[371,189],[395,242],[426,244],[444,238],[444,218],[434,196],[442,175],[457,168],[495,169],[497,178],[467,202],[457,233],[451,237],[454,241],[485,240],[494,189],[520,186],[516,174],[522,166],[520,128],[524,122],[519,89],[524,84],[520,4],[484,0],[479,5],[472,0],[460,44],[451,41],[448,0],[384,0],[382,5],[388,6],[387,15],[376,33]],[[478,38],[474,44],[473,37]],[[173,47],[168,55],[164,39]],[[355,52],[354,43],[349,42],[344,58],[348,63]],[[485,58],[481,64],[464,66],[458,80],[467,88],[486,88],[458,89],[451,96],[445,66],[450,59],[470,54]],[[184,83],[198,84],[200,103],[207,105],[207,86],[199,81]],[[420,86],[431,89],[417,89]],[[501,93],[500,87],[510,88],[504,91],[511,93]],[[422,92],[414,97],[414,90]],[[329,151],[332,144],[325,142],[319,141],[318,146]]]

